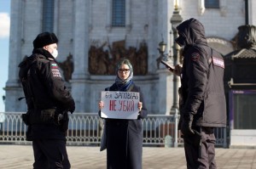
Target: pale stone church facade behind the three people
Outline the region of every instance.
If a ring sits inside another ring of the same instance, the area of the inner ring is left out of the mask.
[[[169,114],[173,75],[163,65],[158,69],[156,59],[160,56],[157,48],[161,40],[167,43],[166,54],[172,59],[170,19],[174,6],[179,8],[183,20],[191,17],[200,20],[205,25],[209,44],[222,54],[234,50],[231,41],[236,36],[237,27],[245,25],[246,18],[244,0],[219,0],[219,8],[205,8],[204,0],[125,0],[125,25],[113,26],[114,0],[12,0],[6,111],[26,111],[25,100],[17,100],[23,96],[18,65],[26,55],[32,54],[32,41],[44,31],[44,7],[49,2],[54,2],[52,31],[59,38],[57,60],[64,63],[68,56],[73,56],[69,58],[73,61],[73,72],[67,86],[72,90],[77,112],[96,112],[101,91],[115,78],[105,71],[90,72],[92,47],[106,52],[108,58],[104,63],[109,63],[109,59],[113,59],[113,48],[125,48],[126,52],[133,50],[137,58],[142,56],[139,49],[146,45],[146,58],[134,62],[136,66],[144,61],[146,72],[138,73],[134,81],[142,87],[149,114]],[[252,17],[255,13],[252,8],[256,4],[253,0],[248,2],[249,22],[253,24],[256,20]]]

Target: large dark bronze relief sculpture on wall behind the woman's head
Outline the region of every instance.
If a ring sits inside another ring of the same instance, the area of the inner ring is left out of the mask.
[[[89,72],[91,75],[114,75],[115,65],[119,59],[130,59],[133,66],[134,75],[146,75],[148,72],[148,47],[145,42],[141,42],[139,48],[125,48],[125,40],[113,42],[112,46],[108,42],[103,42],[101,46],[98,42],[92,42],[89,49]]]

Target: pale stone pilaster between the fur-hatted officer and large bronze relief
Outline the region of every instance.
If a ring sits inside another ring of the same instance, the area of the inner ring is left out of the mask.
[[[87,17],[90,14],[90,1],[76,0],[73,1],[75,6],[74,11],[74,32],[73,32],[73,62],[74,71],[72,80],[72,94],[76,103],[77,112],[86,112],[86,106],[89,104],[86,100],[88,85],[88,48],[89,48],[89,29],[90,19]],[[87,104],[85,104],[87,103]]]

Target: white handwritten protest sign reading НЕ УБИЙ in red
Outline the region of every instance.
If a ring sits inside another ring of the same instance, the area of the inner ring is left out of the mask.
[[[137,119],[140,93],[102,91],[102,118]]]

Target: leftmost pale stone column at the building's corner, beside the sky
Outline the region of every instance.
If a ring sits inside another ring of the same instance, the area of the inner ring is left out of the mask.
[[[19,67],[21,57],[21,45],[22,45],[22,20],[20,20],[20,16],[22,14],[22,4],[23,1],[14,0],[11,2],[11,26],[10,26],[10,37],[9,37],[9,76],[8,81],[6,82],[6,87],[4,90],[6,91],[6,111],[16,111],[16,110],[25,110],[26,104],[17,103],[17,96],[23,96],[22,88],[19,85]],[[23,106],[22,108],[20,106]]]

